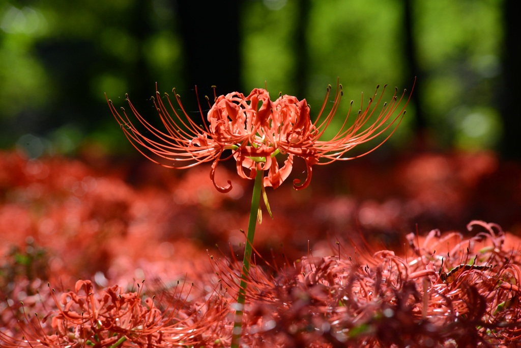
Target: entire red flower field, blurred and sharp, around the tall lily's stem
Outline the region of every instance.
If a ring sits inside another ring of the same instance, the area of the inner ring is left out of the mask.
[[[223,164],[222,194],[208,173],[0,153],[1,345],[229,345],[252,183]],[[371,155],[313,175],[268,189],[247,344],[515,346],[519,163]]]

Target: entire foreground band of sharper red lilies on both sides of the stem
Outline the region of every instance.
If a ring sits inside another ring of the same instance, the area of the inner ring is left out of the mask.
[[[475,236],[410,234],[406,256],[391,250],[353,252],[340,243],[338,255],[308,255],[285,268],[252,267],[244,344],[517,346],[519,238],[482,221],[468,229]],[[97,290],[88,280],[61,293],[42,285],[38,299],[26,299],[24,310],[13,304],[0,313],[0,346],[229,346],[240,264],[212,262],[215,272],[204,277],[205,290],[180,283],[166,289],[167,296],[146,289],[147,282],[135,286],[137,291],[117,285]]]

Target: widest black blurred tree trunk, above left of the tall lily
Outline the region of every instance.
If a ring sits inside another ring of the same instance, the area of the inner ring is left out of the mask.
[[[240,0],[177,2],[185,85],[197,85],[200,95],[212,95],[213,85],[218,95],[242,92],[240,4]],[[190,102],[188,98],[185,101]]]

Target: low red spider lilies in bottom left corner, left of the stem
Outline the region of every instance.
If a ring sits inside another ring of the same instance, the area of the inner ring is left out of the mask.
[[[53,289],[57,309],[41,320],[24,311],[23,337],[0,331],[0,346],[171,347],[208,345],[221,339],[228,309],[220,296],[210,295],[195,304],[183,298],[191,289],[188,293],[175,289],[165,308],[156,306],[154,297],[145,297],[138,287],[138,292],[125,292],[118,285],[96,292],[91,281],[79,280],[74,291],[60,296]]]

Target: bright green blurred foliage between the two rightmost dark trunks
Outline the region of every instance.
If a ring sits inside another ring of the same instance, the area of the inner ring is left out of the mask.
[[[420,105],[444,145],[494,148],[502,71],[501,1],[415,2]]]

